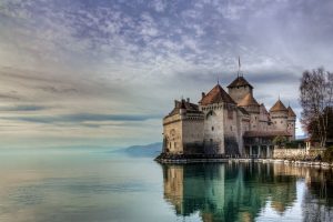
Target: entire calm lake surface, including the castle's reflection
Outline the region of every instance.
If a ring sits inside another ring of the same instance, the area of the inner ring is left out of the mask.
[[[0,154],[0,221],[333,221],[332,171],[160,165],[105,151]]]

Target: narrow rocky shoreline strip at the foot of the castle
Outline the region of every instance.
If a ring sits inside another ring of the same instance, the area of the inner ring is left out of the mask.
[[[283,159],[251,159],[251,158],[218,158],[218,159],[155,159],[162,164],[186,164],[186,163],[240,163],[240,162],[261,162],[261,163],[280,163],[291,164],[295,167],[315,167],[315,168],[333,168],[333,163],[321,161],[299,161]]]

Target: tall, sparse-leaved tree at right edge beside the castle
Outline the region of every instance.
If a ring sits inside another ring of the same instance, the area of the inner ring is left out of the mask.
[[[307,132],[309,129],[315,129],[320,145],[324,147],[329,130],[329,110],[333,107],[333,73],[323,68],[304,71],[300,85],[300,101],[303,108],[303,129]]]

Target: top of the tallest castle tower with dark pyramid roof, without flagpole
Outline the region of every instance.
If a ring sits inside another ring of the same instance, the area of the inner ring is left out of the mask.
[[[230,97],[239,103],[246,94],[253,95],[253,87],[244,79],[238,77],[228,85]]]

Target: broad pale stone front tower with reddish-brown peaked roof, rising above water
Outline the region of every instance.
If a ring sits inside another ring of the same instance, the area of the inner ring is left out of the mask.
[[[204,149],[206,153],[239,154],[238,107],[218,83],[202,93],[199,109],[204,113]]]

